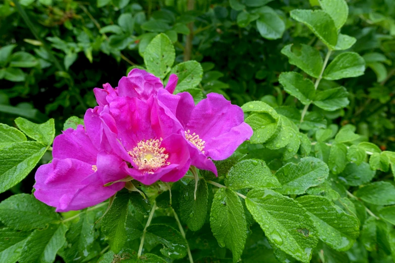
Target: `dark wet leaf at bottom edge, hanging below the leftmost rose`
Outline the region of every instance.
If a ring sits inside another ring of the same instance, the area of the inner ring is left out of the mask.
[[[77,223],[70,224],[69,231],[66,233],[68,245],[62,253],[59,252],[67,263],[86,257],[95,239],[94,226],[95,213],[87,211],[80,214]]]

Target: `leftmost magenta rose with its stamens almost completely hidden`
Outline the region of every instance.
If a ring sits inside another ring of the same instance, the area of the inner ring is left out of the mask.
[[[53,141],[52,162],[36,172],[34,196],[66,212],[99,204],[121,190],[125,182],[104,184],[128,176],[126,162],[97,146],[82,125],[65,130]]]

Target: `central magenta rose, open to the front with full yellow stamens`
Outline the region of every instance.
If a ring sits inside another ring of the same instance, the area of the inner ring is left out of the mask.
[[[182,126],[168,114],[153,95],[147,101],[117,97],[99,114],[105,134],[101,146],[130,163],[129,175],[144,184],[177,181],[191,159]]]

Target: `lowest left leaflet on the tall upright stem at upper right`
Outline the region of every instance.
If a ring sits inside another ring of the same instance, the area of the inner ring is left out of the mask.
[[[310,104],[315,97],[315,88],[311,80],[303,78],[296,72],[283,72],[278,77],[278,82],[284,89],[296,97],[302,104]]]

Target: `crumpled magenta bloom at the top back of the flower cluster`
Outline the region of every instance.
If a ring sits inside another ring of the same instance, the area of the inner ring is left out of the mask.
[[[163,84],[159,78],[144,70],[133,69],[128,77],[122,77],[118,83],[118,94],[121,97],[136,97],[147,100],[151,95],[156,95]]]

